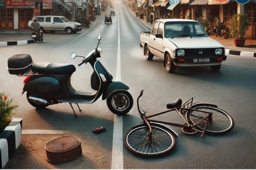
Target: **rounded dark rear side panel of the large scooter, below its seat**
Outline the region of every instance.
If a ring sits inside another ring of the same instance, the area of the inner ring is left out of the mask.
[[[31,94],[59,95],[61,89],[59,80],[53,77],[39,77],[27,82],[23,87],[24,91],[28,91]]]

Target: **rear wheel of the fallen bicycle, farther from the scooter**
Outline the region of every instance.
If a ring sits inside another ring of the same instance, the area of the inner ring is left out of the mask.
[[[217,107],[197,105],[193,109],[187,111],[186,118],[188,122],[193,125],[202,121],[203,118],[209,115],[209,113],[212,113],[212,116],[199,123],[196,126],[198,130],[203,131],[205,128],[206,133],[209,134],[225,134],[234,128],[235,123],[233,118],[227,112]]]

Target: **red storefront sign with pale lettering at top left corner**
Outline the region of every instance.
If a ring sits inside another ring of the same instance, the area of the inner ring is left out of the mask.
[[[5,0],[6,8],[34,8],[35,6],[34,0]]]

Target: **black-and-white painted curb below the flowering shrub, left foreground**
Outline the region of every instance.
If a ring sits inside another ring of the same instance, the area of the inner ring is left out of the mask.
[[[3,169],[21,144],[22,119],[13,118],[0,133],[0,167]]]

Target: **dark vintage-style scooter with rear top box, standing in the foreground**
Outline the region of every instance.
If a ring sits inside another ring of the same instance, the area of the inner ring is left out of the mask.
[[[72,103],[77,106],[79,103],[91,104],[102,96],[102,100],[107,99],[107,106],[111,112],[124,115],[131,110],[133,98],[127,91],[129,87],[122,82],[113,81],[112,75],[97,60],[102,52],[98,48],[100,39],[101,35],[98,37],[99,42],[95,50],[86,57],[71,54],[72,59],[84,58],[78,66],[90,63],[93,67],[91,87],[97,90],[95,93],[77,91],[71,86],[71,75],[76,71],[72,64],[33,63],[29,54],[18,54],[8,60],[9,73],[28,75],[24,80],[23,93],[27,91],[28,102],[34,107],[44,108],[53,104],[69,103],[75,113]],[[76,113],[75,116],[77,117]]]

